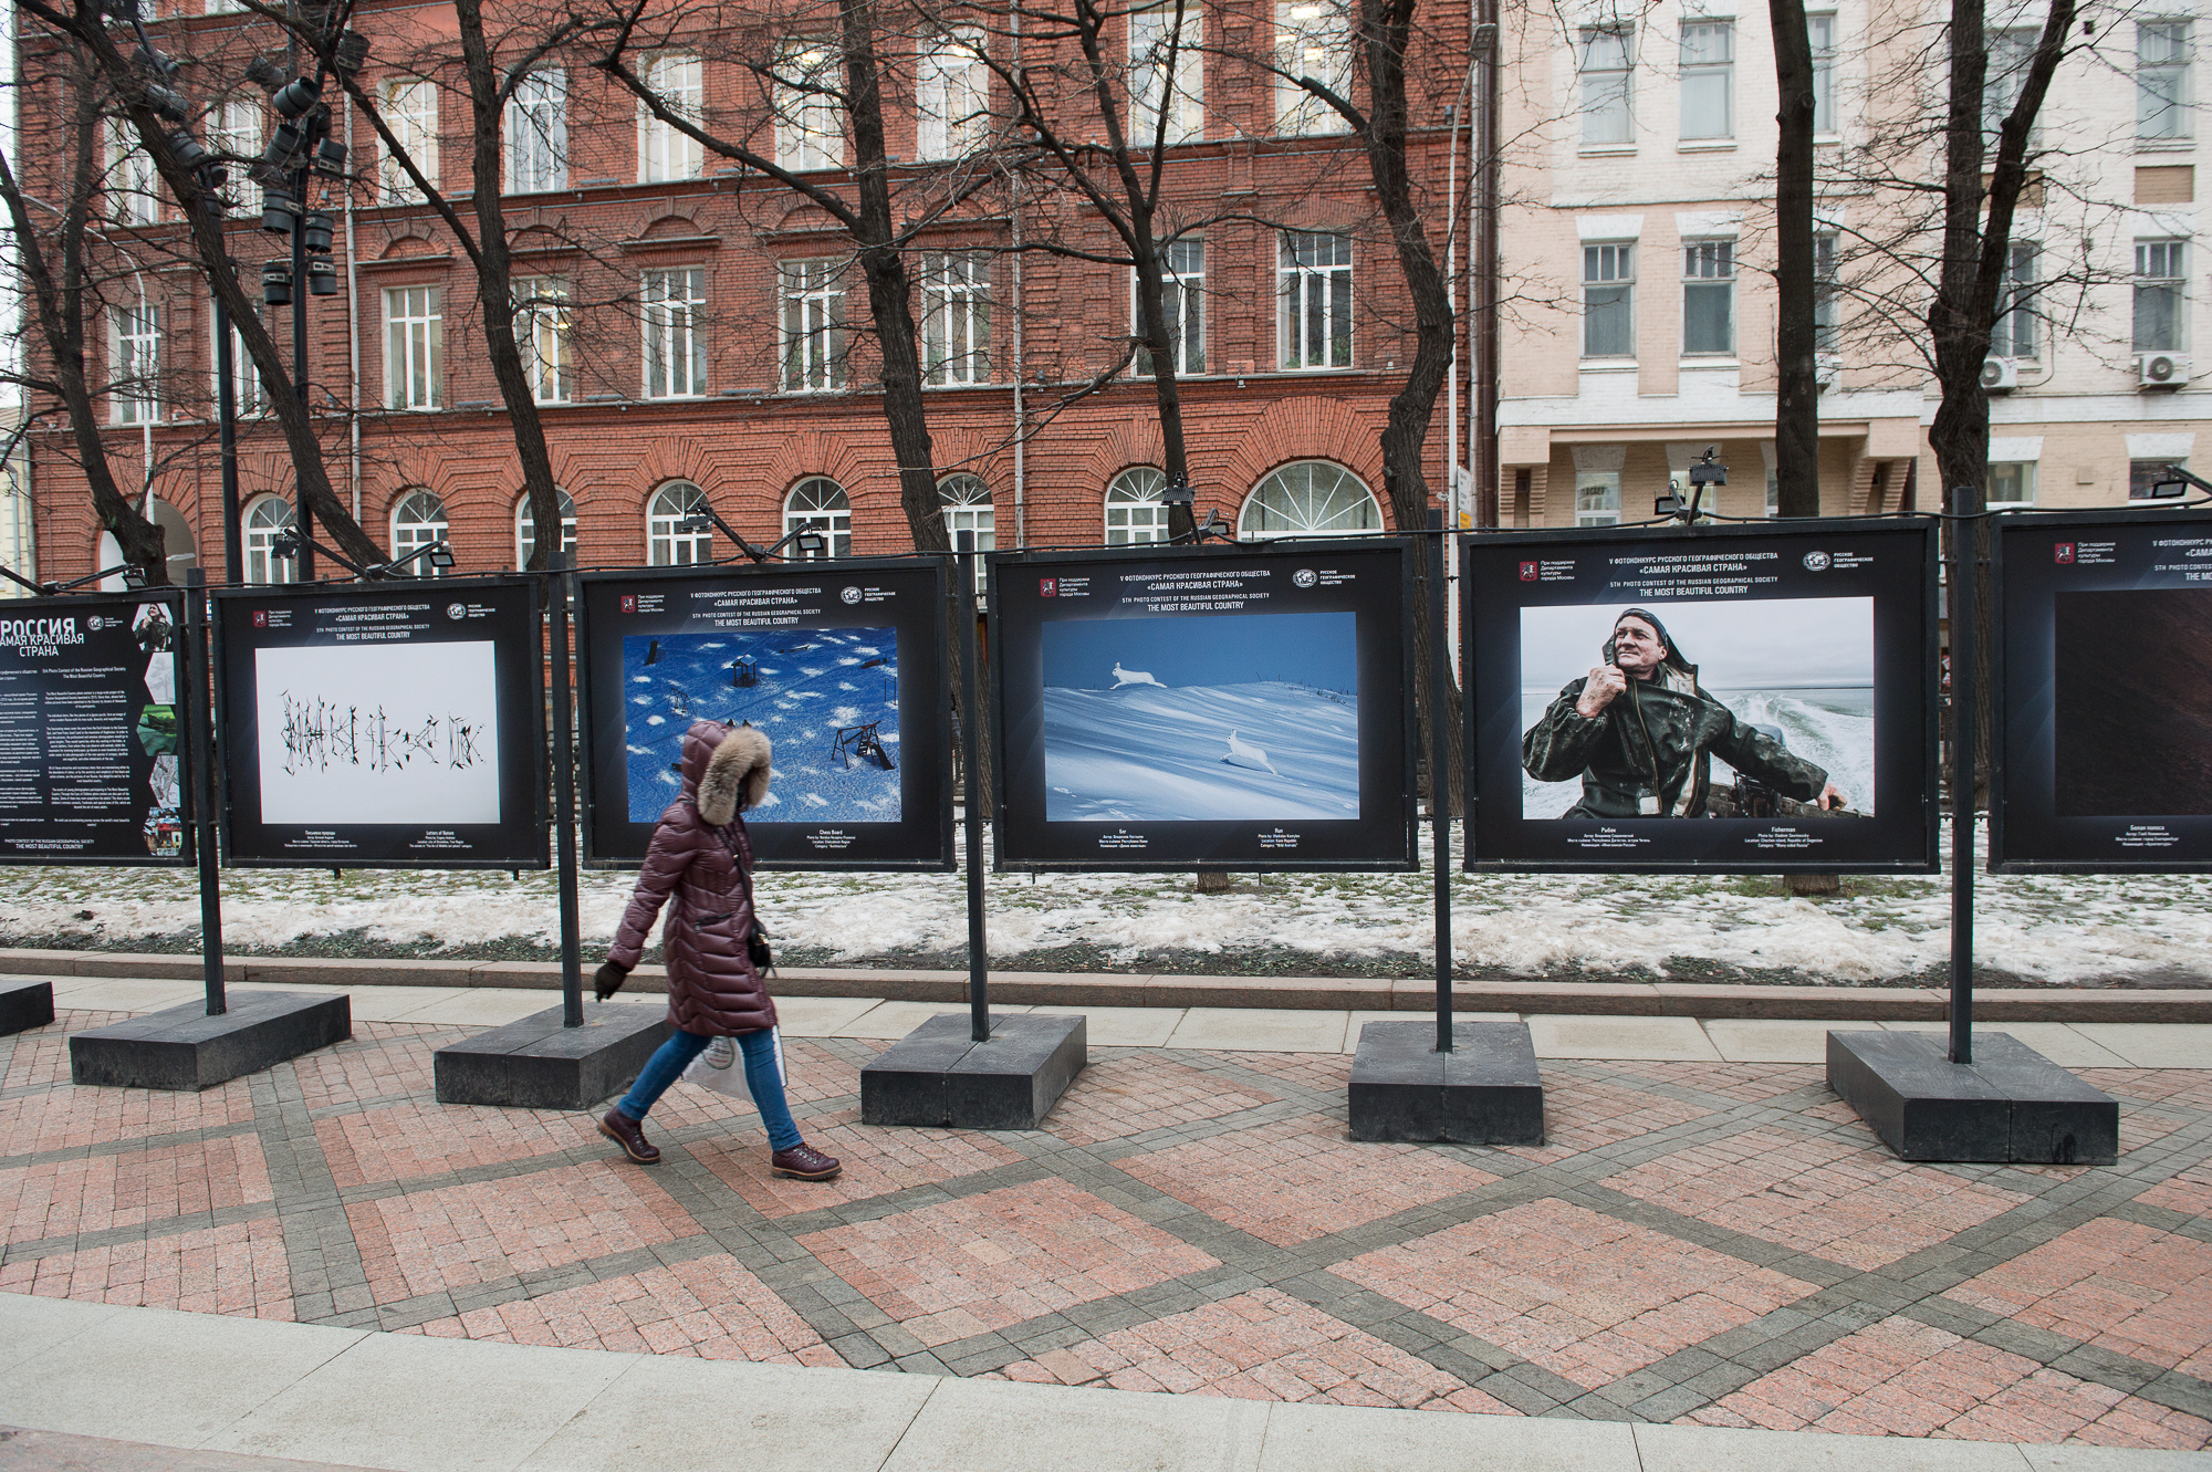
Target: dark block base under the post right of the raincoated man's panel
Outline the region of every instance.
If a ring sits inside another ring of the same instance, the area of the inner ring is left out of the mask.
[[[2119,1103],[2004,1032],[1829,1032],[1827,1087],[1902,1160],[2110,1165]]]

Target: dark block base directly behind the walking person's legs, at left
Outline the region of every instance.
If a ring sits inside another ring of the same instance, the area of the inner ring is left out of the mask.
[[[560,1014],[546,1008],[440,1048],[438,1103],[588,1110],[626,1090],[675,1032],[661,1008],[586,1003],[582,1028],[562,1028]]]

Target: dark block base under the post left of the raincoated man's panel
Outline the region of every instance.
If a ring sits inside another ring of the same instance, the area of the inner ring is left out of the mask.
[[[1544,1079],[1528,1023],[1453,1021],[1451,1052],[1436,1021],[1371,1021],[1352,1056],[1354,1140],[1542,1145]]]

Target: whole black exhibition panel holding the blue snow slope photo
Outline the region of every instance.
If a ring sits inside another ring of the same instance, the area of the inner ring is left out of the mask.
[[[1000,869],[1413,869],[1411,544],[991,557]]]

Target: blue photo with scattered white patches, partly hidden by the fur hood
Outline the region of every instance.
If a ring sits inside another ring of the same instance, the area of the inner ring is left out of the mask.
[[[898,822],[898,630],[790,628],[622,641],[630,822],[684,789],[692,721],[750,721],[776,743],[765,822]]]

